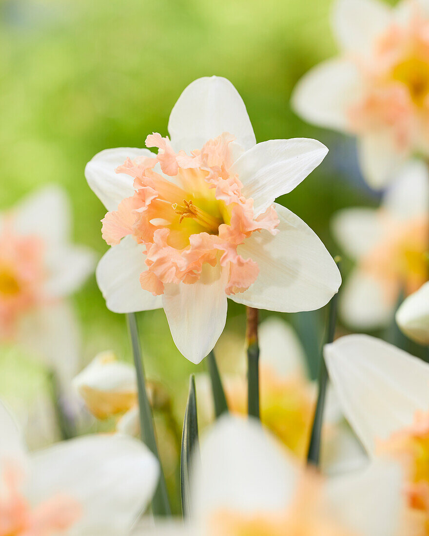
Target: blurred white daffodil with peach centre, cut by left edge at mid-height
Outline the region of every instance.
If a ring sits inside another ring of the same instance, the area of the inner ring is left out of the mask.
[[[69,201],[54,186],[0,213],[0,341],[40,356],[64,389],[79,364],[78,322],[64,297],[95,265],[90,249],[70,243],[70,222]]]

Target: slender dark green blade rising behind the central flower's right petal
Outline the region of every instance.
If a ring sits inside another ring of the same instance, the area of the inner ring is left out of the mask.
[[[338,259],[336,258],[335,260],[338,265],[339,258]],[[332,341],[334,340],[335,325],[337,321],[337,299],[338,299],[338,293],[332,297],[329,303],[328,331],[327,331],[325,344],[332,343]],[[310,444],[308,446],[308,453],[307,453],[307,463],[312,464],[316,467],[319,465],[319,459],[320,459],[320,439],[321,439],[321,432],[322,432],[323,410],[324,410],[324,404],[325,404],[325,398],[326,398],[326,389],[328,385],[328,379],[329,379],[328,370],[326,368],[326,363],[323,357],[323,346],[322,346],[321,356],[320,356],[319,381],[318,381],[319,392],[317,394],[316,411],[314,413],[312,433],[310,436]]]

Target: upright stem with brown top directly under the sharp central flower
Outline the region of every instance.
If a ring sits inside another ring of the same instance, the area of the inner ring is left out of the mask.
[[[258,310],[247,307],[247,412],[260,418],[259,411],[259,345]]]

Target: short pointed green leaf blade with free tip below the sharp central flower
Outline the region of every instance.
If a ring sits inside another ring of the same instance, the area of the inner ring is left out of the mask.
[[[184,412],[182,448],[180,452],[180,493],[182,498],[182,515],[189,516],[191,511],[190,477],[191,463],[199,456],[197,400],[195,396],[195,377],[189,378],[189,394]]]

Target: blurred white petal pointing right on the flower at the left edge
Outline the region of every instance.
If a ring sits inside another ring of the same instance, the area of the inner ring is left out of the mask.
[[[45,255],[48,277],[45,292],[51,297],[62,297],[77,291],[93,273],[95,253],[84,246],[58,244]]]

